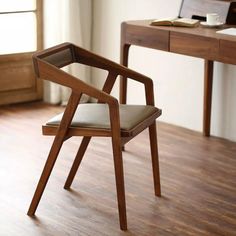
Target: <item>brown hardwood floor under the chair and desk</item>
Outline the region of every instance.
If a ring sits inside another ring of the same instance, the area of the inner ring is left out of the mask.
[[[119,229],[111,142],[95,138],[70,191],[80,138],[62,148],[35,218],[27,216],[61,107],[0,108],[0,235],[236,235],[236,143],[158,123],[162,197],[154,196],[148,133],[124,152],[128,231]]]

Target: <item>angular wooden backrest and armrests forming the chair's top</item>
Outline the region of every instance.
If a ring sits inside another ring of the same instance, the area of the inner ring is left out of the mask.
[[[105,103],[117,103],[116,99],[109,94],[119,75],[133,79],[145,86],[145,91],[149,91],[149,93],[145,92],[146,102],[148,105],[154,105],[153,81],[150,78],[74,44],[63,43],[36,52],[33,54],[33,63],[38,78],[61,84],[71,88],[74,93],[86,94]],[[60,69],[71,63],[79,63],[107,71],[102,90]]]

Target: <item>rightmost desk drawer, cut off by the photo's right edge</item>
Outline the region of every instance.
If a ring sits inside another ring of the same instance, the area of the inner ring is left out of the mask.
[[[236,64],[236,42],[220,40],[220,61],[229,64]]]

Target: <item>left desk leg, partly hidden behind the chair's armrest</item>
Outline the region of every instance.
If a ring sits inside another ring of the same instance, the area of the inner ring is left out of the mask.
[[[121,43],[120,48],[120,63],[124,66],[128,66],[128,56],[129,56],[129,47],[128,44]],[[121,76],[120,78],[120,103],[126,104],[127,101],[127,78]]]

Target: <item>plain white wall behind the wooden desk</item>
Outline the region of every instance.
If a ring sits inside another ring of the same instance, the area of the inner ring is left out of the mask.
[[[126,20],[177,16],[181,0],[95,0],[93,51],[119,62],[120,24]],[[211,133],[236,141],[236,67],[215,63]],[[150,76],[160,120],[202,130],[203,60],[167,52],[130,48],[129,67]],[[102,72],[92,72],[101,86]],[[142,87],[130,83],[128,102],[144,102]],[[140,94],[140,95],[139,95]],[[118,97],[118,86],[113,95]]]

